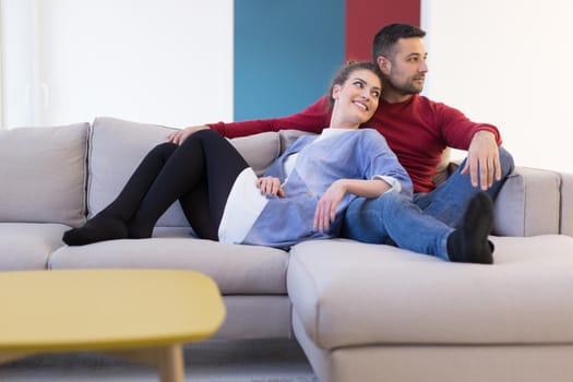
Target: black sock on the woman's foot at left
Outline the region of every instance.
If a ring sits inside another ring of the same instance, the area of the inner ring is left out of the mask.
[[[62,240],[68,246],[85,246],[104,240],[124,239],[128,237],[126,223],[116,216],[98,214],[82,227],[63,234]]]

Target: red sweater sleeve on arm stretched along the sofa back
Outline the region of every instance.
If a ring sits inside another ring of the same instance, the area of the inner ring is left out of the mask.
[[[266,131],[279,131],[296,129],[312,133],[320,133],[324,127],[330,126],[331,110],[329,98],[322,97],[301,112],[289,117],[258,119],[240,122],[217,122],[207,126],[227,138],[237,138],[262,133]]]

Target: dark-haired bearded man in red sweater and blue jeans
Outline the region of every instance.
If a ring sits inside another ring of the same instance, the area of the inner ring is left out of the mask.
[[[422,41],[425,35],[423,31],[408,24],[391,24],[374,36],[373,60],[384,80],[382,98],[374,116],[362,127],[375,129],[386,139],[413,180],[414,203],[402,201],[402,207],[414,208],[414,213],[423,215],[428,224],[457,228],[465,224],[464,229],[469,236],[478,226],[491,226],[491,222],[479,217],[480,214],[474,214],[477,217],[468,222],[468,213],[471,212],[467,212],[466,207],[469,201],[480,190],[494,199],[513,170],[513,158],[500,147],[501,136],[494,126],[473,122],[459,110],[419,95],[428,72]],[[190,127],[172,134],[169,140],[180,143],[201,129],[213,129],[228,138],[282,129],[319,133],[329,126],[330,118],[329,97],[325,96],[290,117]],[[437,188],[433,177],[446,147],[467,151],[467,158]],[[428,253],[420,247],[421,242],[411,243],[411,231],[407,227],[395,229],[395,226],[389,227],[387,218],[381,219],[381,212],[387,210],[385,203],[389,200],[382,195],[377,200],[355,201],[346,213],[345,235],[360,241],[396,243]],[[489,206],[482,205],[485,199],[480,200],[481,204],[474,203],[475,208],[488,210]],[[404,206],[404,203],[411,205]],[[487,232],[482,236],[489,234],[489,229],[485,229]]]

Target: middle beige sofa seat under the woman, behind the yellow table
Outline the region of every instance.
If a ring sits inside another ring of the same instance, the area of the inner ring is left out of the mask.
[[[189,232],[189,227],[163,227],[155,229],[152,239],[63,246],[50,255],[48,267],[199,271],[217,283],[227,309],[215,338],[291,337],[288,253],[268,247],[222,244]]]

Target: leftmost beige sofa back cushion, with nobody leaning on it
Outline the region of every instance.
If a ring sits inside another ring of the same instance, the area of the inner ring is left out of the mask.
[[[84,222],[87,129],[0,130],[0,222]]]

